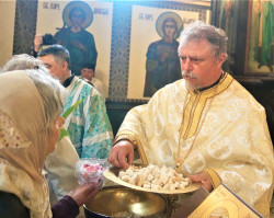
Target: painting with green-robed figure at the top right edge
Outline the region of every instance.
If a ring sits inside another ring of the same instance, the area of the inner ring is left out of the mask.
[[[246,73],[274,76],[274,1],[249,1]]]

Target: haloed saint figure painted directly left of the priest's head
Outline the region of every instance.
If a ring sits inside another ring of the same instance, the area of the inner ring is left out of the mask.
[[[182,78],[176,41],[183,30],[182,19],[174,12],[163,12],[156,21],[156,30],[161,39],[151,43],[146,54],[144,96],[152,96],[157,90]]]

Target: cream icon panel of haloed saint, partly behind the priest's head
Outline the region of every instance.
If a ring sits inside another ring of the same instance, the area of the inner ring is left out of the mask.
[[[127,99],[149,99],[182,78],[179,37],[196,20],[208,23],[209,13],[133,5]]]

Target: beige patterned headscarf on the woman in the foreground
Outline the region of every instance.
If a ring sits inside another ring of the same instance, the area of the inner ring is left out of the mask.
[[[0,73],[0,191],[15,194],[32,218],[52,217],[42,170],[47,153],[43,100],[25,71]]]

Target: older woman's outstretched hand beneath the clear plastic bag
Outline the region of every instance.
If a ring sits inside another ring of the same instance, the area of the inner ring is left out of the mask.
[[[70,192],[68,195],[72,197],[78,206],[82,206],[94,198],[98,194],[100,187],[94,183],[89,183],[78,186],[75,191]]]

